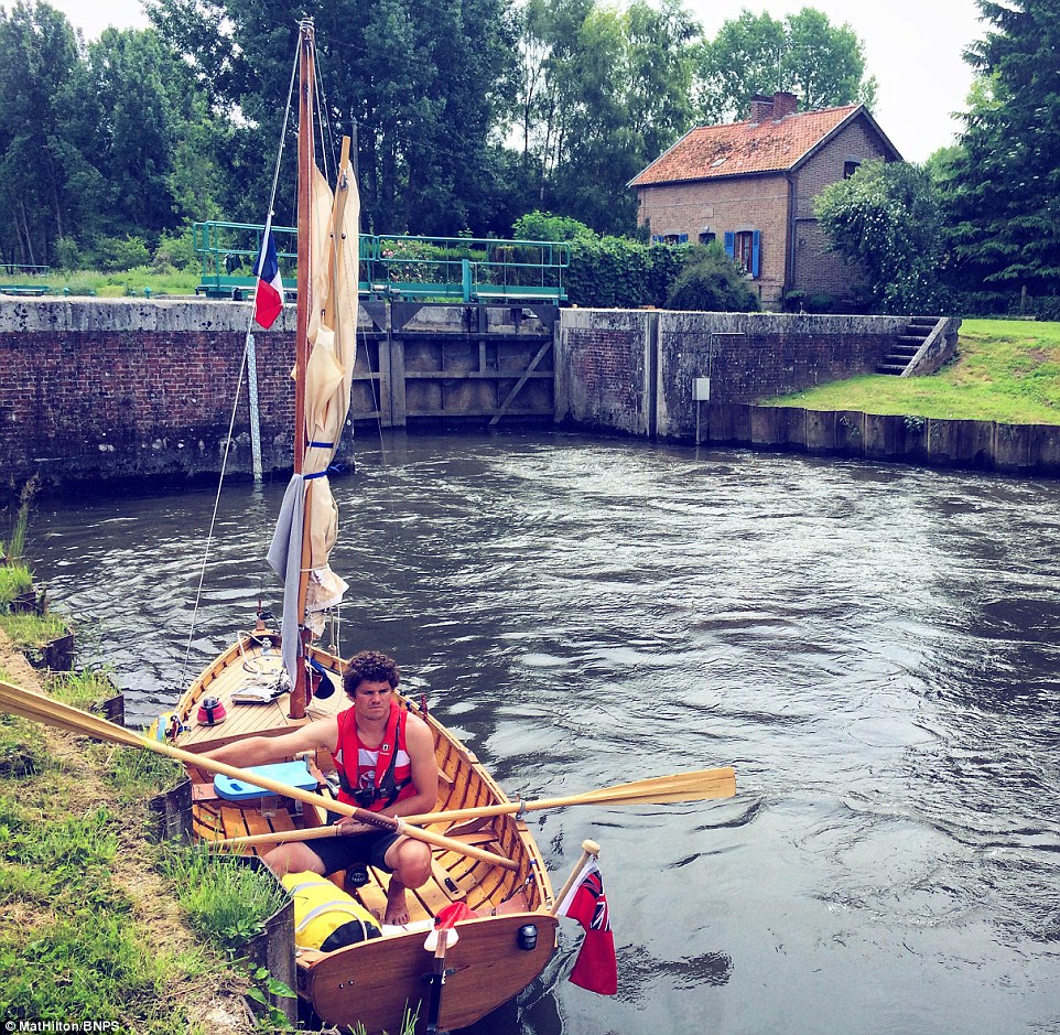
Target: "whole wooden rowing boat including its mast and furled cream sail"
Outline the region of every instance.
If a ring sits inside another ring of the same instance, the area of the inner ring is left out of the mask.
[[[270,563],[284,581],[282,622],[279,628],[268,627],[259,615],[256,627],[240,634],[181,698],[176,713],[184,731],[179,745],[196,753],[244,737],[290,732],[307,721],[334,718],[350,703],[340,689],[326,700],[311,689],[311,664],[335,687],[342,686],[344,668],[339,658],[312,645],[311,629],[314,605],[323,611],[322,600],[333,602],[335,593],[340,596],[345,590],[328,564],[337,519],[327,467],[349,407],[360,218],[348,140],[334,193],[317,170],[314,62],[314,28],[306,19],[299,31],[294,474],[270,551]],[[273,271],[275,261],[269,256],[268,237],[267,224],[258,263],[259,279],[266,283],[264,270]],[[277,696],[263,703],[241,703],[256,692]],[[220,714],[213,705],[205,719],[199,718],[207,698],[224,709],[225,719],[216,724],[209,724]],[[435,811],[508,804],[464,744],[423,708],[404,704],[421,714],[434,736],[441,774]],[[328,795],[333,761],[317,757],[316,766],[318,791]],[[193,829],[202,841],[323,828],[334,819],[318,802],[286,794],[227,800],[215,793],[205,767],[188,764],[188,773]],[[410,833],[421,840],[433,835],[435,844],[439,834],[445,837],[433,849],[432,876],[410,892],[407,928],[385,928],[382,937],[331,952],[298,949],[296,991],[325,1023],[360,1023],[368,1032],[394,1033],[410,1007],[419,1009],[428,1031],[462,1027],[517,995],[551,958],[558,924],[550,912],[552,888],[526,823],[518,816],[498,815],[455,827],[442,820]],[[249,850],[257,851],[257,845]],[[385,874],[369,870],[368,882],[354,891],[379,917],[385,914],[387,882]],[[335,875],[335,883],[343,885],[342,874]],[[435,917],[454,903],[472,910],[473,917],[459,923],[455,944],[450,947],[451,936],[445,936],[440,951],[429,950],[425,936]]]

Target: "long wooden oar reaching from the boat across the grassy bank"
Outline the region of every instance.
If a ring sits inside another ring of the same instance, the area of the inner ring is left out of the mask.
[[[35,722],[41,722],[46,725],[57,726],[71,733],[80,733],[86,736],[96,737],[97,740],[110,741],[115,744],[125,744],[128,747],[145,747],[148,751],[155,752],[155,754],[169,755],[171,758],[176,758],[185,765],[194,765],[201,769],[206,769],[208,773],[221,773],[234,779],[252,784],[255,787],[271,790],[273,794],[295,798],[307,805],[315,805],[317,808],[339,812],[344,816],[353,816],[363,823],[378,827],[382,830],[393,830],[397,833],[414,838],[418,841],[425,841],[428,844],[433,844],[436,848],[444,848],[451,852],[459,852],[463,855],[470,855],[484,862],[493,863],[496,866],[502,866],[505,870],[519,869],[518,863],[510,859],[505,859],[502,855],[495,855],[493,852],[487,852],[475,845],[464,844],[462,841],[454,841],[452,838],[443,837],[433,831],[420,830],[418,827],[407,827],[403,820],[399,820],[393,816],[369,812],[354,805],[346,805],[344,801],[325,798],[323,795],[314,794],[311,790],[289,787],[286,784],[281,784],[279,780],[261,776],[258,773],[240,769],[234,765],[226,765],[224,762],[215,762],[213,758],[196,755],[194,752],[183,751],[180,747],[174,747],[172,744],[164,744],[150,737],[139,736],[131,730],[115,725],[115,723],[108,722],[106,719],[100,719],[98,715],[90,715],[62,701],[56,701],[54,698],[34,693],[22,687],[15,687],[3,681],[0,681],[0,708],[13,715],[32,719]]]

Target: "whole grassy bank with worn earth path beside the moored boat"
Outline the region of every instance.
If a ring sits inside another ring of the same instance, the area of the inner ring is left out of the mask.
[[[32,495],[26,486],[0,542],[0,679],[88,709],[113,694],[106,675],[39,672],[24,656],[67,633],[62,616],[39,613],[22,560]],[[26,595],[34,606],[17,611]],[[248,909],[248,881],[263,882],[246,867],[151,843],[148,801],[182,773],[0,712],[0,1018],[255,1031],[244,995],[260,1001],[269,978],[250,981],[234,960],[282,899],[267,882],[272,898]]]

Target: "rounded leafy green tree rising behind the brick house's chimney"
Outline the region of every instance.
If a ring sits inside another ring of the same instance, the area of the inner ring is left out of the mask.
[[[755,94],[788,90],[802,110],[876,100],[861,40],[813,8],[780,21],[744,11],[703,44],[696,69],[700,115],[707,122],[746,118]]]

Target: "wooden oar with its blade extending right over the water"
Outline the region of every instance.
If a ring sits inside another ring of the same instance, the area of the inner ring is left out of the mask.
[[[538,801],[506,801],[498,805],[482,805],[468,809],[451,809],[445,812],[422,812],[419,816],[403,817],[407,823],[426,826],[429,823],[462,822],[491,816],[513,812],[536,812],[540,809],[562,809],[569,805],[667,805],[672,801],[704,801],[709,798],[732,798],[736,794],[736,770],[731,766],[718,769],[696,769],[692,773],[675,773],[672,776],[656,776],[651,779],[636,780],[632,784],[617,784],[601,790],[587,790],[581,795],[565,798],[541,798]],[[317,838],[337,837],[338,831],[327,827],[309,830],[277,830],[273,833],[258,833],[244,838],[228,838],[214,841],[216,848],[270,844],[280,841],[315,841]]]

